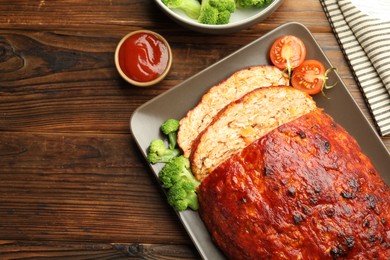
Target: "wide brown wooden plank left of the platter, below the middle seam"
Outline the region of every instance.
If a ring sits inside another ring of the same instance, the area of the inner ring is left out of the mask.
[[[191,244],[129,135],[0,132],[0,158],[0,239]]]

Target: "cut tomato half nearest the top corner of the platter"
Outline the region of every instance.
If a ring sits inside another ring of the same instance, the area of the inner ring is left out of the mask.
[[[282,70],[298,67],[306,58],[305,44],[296,36],[286,35],[278,38],[271,46],[271,62]]]

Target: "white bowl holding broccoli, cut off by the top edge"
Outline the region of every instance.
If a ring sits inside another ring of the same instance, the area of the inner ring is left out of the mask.
[[[169,9],[161,0],[155,0],[155,2],[166,15],[188,29],[209,34],[227,34],[249,28],[264,20],[282,4],[283,0],[273,0],[271,4],[264,8],[237,8],[232,13],[230,22],[221,25],[201,24],[197,20],[188,17],[181,10]]]

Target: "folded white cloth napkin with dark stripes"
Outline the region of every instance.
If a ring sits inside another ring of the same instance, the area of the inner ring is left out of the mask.
[[[390,134],[389,0],[320,0],[381,136]],[[386,11],[387,10],[387,11]]]

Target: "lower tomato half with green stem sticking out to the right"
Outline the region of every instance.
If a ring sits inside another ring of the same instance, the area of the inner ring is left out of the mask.
[[[295,68],[291,77],[291,85],[310,95],[322,91],[325,85],[326,71],[324,65],[317,60],[305,60]]]

